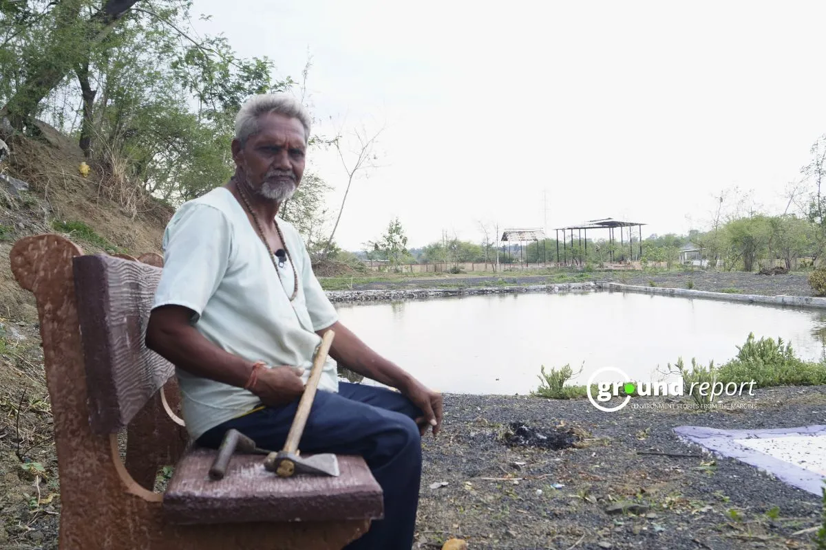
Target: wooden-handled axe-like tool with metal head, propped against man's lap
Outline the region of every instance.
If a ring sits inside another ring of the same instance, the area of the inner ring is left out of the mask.
[[[325,476],[339,475],[339,459],[335,454],[315,454],[311,457],[301,458],[298,456],[298,442],[304,432],[307,417],[310,416],[310,408],[313,399],[316,397],[318,381],[321,378],[321,369],[327,359],[327,352],[333,343],[335,332],[326,331],[321,338],[321,344],[316,351],[316,359],[313,361],[310,371],[310,378],[307,380],[301,401],[298,402],[296,416],[292,419],[292,426],[287,434],[287,441],[284,448],[278,453],[270,453],[264,459],[263,467],[270,472],[276,472],[280,477],[291,477],[292,474],[314,473]]]

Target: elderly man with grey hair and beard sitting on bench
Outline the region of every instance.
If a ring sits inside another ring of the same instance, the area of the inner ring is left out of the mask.
[[[235,428],[281,449],[320,335],[330,356],[387,388],[339,383],[328,360],[301,450],[358,454],[384,491],[385,518],[348,548],[412,546],[420,437],[439,432],[438,393],[377,355],[339,321],[296,229],[278,208],[301,182],[310,117],[285,95],[254,96],[235,119],[235,175],[183,204],[164,233],[164,273],[146,345],[177,367],[193,440]]]

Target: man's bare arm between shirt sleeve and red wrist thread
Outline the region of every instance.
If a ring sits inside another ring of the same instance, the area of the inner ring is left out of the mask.
[[[189,374],[243,388],[252,364],[208,341],[183,313],[160,308],[150,316],[146,346]]]

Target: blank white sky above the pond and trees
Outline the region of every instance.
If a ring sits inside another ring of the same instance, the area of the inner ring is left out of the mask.
[[[384,167],[354,181],[339,225],[349,250],[395,216],[419,247],[443,229],[478,242],[480,221],[542,228],[545,206],[548,229],[612,217],[648,223],[643,237],[686,233],[731,186],[776,213],[826,133],[826,2],[196,0],[193,13],[280,77],[300,80],[309,51],[319,119],[387,123]],[[335,214],[344,170],[311,160]]]

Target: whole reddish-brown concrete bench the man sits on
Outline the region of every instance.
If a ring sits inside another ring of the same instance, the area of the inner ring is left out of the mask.
[[[340,477],[280,478],[263,457],[194,448],[178,417],[173,365],[144,344],[162,258],[83,255],[58,235],[12,248],[17,281],[36,297],[60,480],[59,548],[342,548],[383,513],[360,457]],[[126,429],[126,460],[118,433]],[[159,468],[173,465],[163,493]]]

